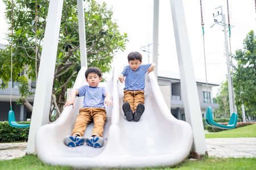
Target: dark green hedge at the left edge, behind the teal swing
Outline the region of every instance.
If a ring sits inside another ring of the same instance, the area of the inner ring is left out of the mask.
[[[30,124],[30,122],[19,122]],[[13,128],[9,122],[0,122],[0,142],[27,141],[29,128]]]

